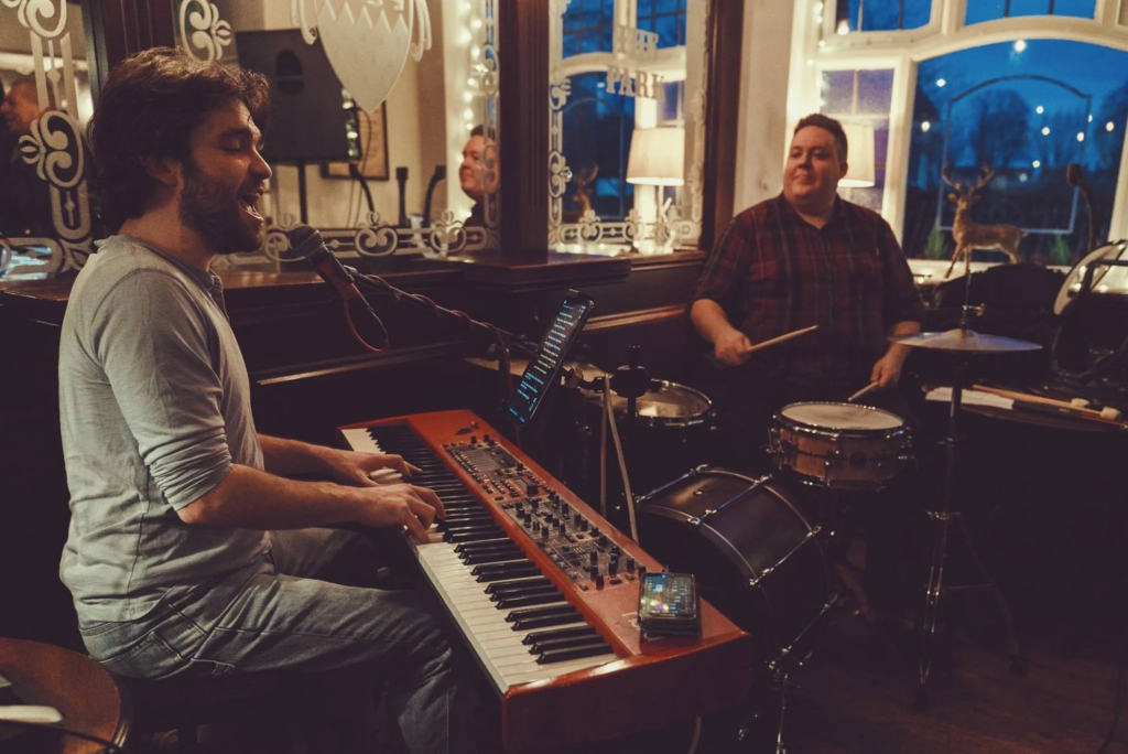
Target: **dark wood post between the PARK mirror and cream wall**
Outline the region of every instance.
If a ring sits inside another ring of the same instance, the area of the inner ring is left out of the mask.
[[[732,219],[740,121],[743,0],[713,0],[708,21],[708,91],[705,105],[705,216],[698,248],[710,249]]]

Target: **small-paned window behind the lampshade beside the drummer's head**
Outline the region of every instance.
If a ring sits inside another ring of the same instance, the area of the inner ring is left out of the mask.
[[[855,204],[881,211],[885,194],[885,156],[889,152],[889,108],[893,96],[893,71],[826,71],[822,74],[822,105],[819,112],[844,123],[873,126],[874,176],[870,188],[847,188]]]

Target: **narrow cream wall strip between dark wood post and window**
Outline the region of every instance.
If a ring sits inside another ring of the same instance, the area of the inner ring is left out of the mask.
[[[783,191],[793,17],[791,2],[744,0],[735,212]]]

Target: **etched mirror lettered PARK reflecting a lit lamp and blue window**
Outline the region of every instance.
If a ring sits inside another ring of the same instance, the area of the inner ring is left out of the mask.
[[[669,252],[700,236],[705,0],[565,0],[549,15],[548,243]]]

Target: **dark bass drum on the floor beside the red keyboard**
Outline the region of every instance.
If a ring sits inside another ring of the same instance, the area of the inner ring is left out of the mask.
[[[822,545],[770,477],[699,466],[637,501],[643,547],[755,640],[770,672],[802,659],[837,598]]]

